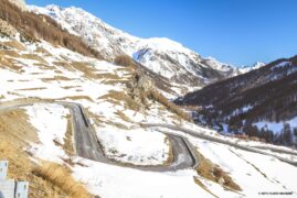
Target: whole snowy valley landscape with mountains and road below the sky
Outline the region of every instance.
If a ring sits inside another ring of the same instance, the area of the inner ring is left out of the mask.
[[[296,75],[0,0],[0,161],[33,198],[296,197]]]

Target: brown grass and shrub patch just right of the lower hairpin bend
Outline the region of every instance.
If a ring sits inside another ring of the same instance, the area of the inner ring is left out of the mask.
[[[229,176],[226,172],[213,164],[210,160],[205,158],[200,152],[197,151],[199,157],[199,166],[197,172],[202,177],[212,182],[219,183],[220,178],[224,179],[223,186],[227,189],[241,191],[241,187]]]

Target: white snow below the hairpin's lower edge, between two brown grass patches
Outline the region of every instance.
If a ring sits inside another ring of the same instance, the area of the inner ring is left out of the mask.
[[[93,194],[102,197],[212,197],[194,184],[193,176],[195,176],[195,173],[193,170],[177,173],[140,172],[91,161],[83,162],[88,167],[75,166],[73,168],[75,178],[85,183]]]

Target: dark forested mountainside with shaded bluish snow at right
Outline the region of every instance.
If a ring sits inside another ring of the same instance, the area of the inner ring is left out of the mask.
[[[198,123],[246,133],[269,143],[297,144],[297,56],[219,81],[176,100],[195,106]],[[286,138],[285,138],[286,136]]]

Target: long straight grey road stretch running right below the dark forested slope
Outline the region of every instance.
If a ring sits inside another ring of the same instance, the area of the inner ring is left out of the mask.
[[[287,154],[296,155],[296,153],[293,153],[293,152],[286,152],[286,151],[283,151],[283,150],[272,148],[272,147],[268,147],[268,146],[267,147],[265,147],[265,146],[251,147],[251,146],[246,146],[246,145],[240,145],[240,144],[231,142],[231,141],[222,140],[220,138],[206,135],[206,134],[203,134],[203,133],[200,133],[200,132],[197,132],[197,131],[192,131],[190,129],[176,127],[176,125],[170,125],[170,124],[141,123],[141,125],[145,127],[145,128],[167,128],[167,129],[170,129],[170,130],[173,130],[173,131],[181,131],[181,132],[184,132],[187,134],[190,134],[190,135],[199,138],[199,139],[203,139],[203,140],[206,140],[206,141],[212,141],[212,142],[230,145],[230,146],[236,147],[238,150],[259,153],[259,154],[264,154],[264,155],[269,155],[269,156],[278,158],[279,161],[283,161],[283,162],[288,163],[290,165],[297,166],[297,162],[291,162],[291,161],[289,161],[287,158],[282,157],[282,156],[269,154],[269,153],[263,152],[261,150],[271,150],[271,151],[276,152],[276,153],[287,153]],[[261,148],[261,150],[257,150],[257,148]]]

